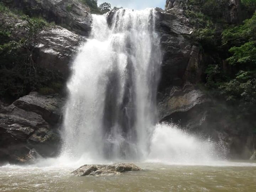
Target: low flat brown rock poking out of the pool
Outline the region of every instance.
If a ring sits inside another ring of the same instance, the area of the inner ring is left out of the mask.
[[[120,174],[126,171],[141,171],[142,169],[133,163],[116,163],[113,165],[84,165],[73,171],[75,176],[96,176],[106,174]]]

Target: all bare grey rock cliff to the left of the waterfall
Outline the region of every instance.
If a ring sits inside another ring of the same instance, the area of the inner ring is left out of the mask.
[[[50,25],[44,28],[37,34],[33,52],[33,62],[37,66],[59,71],[66,81],[77,48],[90,33],[90,9],[79,1],[3,2],[30,16],[44,17],[66,27]],[[10,31],[11,40],[26,38],[27,21],[4,13],[0,13],[0,20],[1,30]],[[31,92],[11,105],[10,101],[10,98],[0,101],[0,162],[31,162],[34,158],[58,155],[65,95]]]

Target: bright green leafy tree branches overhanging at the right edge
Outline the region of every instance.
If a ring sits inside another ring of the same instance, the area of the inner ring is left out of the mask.
[[[238,104],[243,116],[252,117],[256,107],[256,13],[222,34],[223,46],[231,47],[226,60],[233,73],[230,81],[219,86],[221,94],[227,101]]]

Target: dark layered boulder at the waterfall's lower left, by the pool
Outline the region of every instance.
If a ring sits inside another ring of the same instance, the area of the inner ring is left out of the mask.
[[[36,92],[0,110],[0,161],[26,162],[33,154],[55,156],[64,99]]]

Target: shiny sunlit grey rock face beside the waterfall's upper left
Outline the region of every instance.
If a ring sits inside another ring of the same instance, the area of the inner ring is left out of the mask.
[[[62,27],[50,28],[39,34],[36,62],[38,65],[58,70],[67,78],[77,48],[85,39]]]

